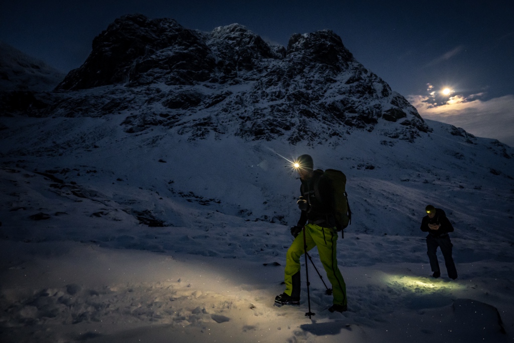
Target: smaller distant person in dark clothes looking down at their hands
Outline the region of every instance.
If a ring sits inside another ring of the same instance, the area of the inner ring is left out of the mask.
[[[427,255],[430,260],[432,272],[434,272],[432,276],[434,278],[441,276],[436,255],[437,247],[440,247],[443,257],[445,258],[448,277],[455,280],[457,278],[457,269],[455,268],[455,263],[452,258],[453,244],[451,244],[450,236],[448,235],[448,232],[453,232],[453,226],[448,218],[446,218],[446,213],[442,209],[428,205],[425,210],[427,211],[427,215],[424,216],[423,221],[421,221],[421,231],[428,232]]]

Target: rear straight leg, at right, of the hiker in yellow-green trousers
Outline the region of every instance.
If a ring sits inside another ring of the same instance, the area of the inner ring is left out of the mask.
[[[318,247],[326,276],[332,284],[333,302],[337,305],[346,306],[346,284],[337,266],[337,232],[317,225],[309,227],[307,232],[309,230]]]

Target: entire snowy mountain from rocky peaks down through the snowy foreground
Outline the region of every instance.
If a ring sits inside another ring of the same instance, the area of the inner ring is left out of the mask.
[[[514,150],[424,120],[334,32],[284,48],[128,15],[33,95],[0,112],[2,341],[512,338]],[[309,269],[313,321],[305,292],[272,305],[299,217],[282,156],[303,153],[346,174],[354,212],[348,312]],[[427,204],[456,281],[429,278]]]

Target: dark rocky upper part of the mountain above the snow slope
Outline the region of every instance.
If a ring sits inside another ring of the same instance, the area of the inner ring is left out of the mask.
[[[126,132],[160,125],[188,140],[318,143],[378,130],[413,141],[431,130],[333,31],[293,34],[285,48],[239,24],[200,32],[143,15],[115,20],[82,66],[53,92],[26,100],[37,106],[10,106],[3,115],[124,115]]]

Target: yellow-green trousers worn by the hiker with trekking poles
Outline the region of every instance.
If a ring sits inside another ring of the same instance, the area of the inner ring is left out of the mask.
[[[307,251],[318,247],[321,263],[325,268],[326,276],[332,283],[334,304],[346,305],[346,284],[343,276],[337,267],[337,232],[332,229],[321,227],[315,224],[307,224],[305,229],[305,240]],[[300,272],[300,257],[304,254],[303,232],[300,232],[287,250],[284,281],[286,284],[285,294],[291,295],[293,275]]]

